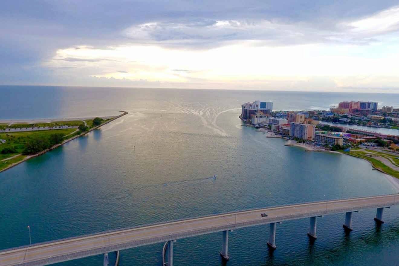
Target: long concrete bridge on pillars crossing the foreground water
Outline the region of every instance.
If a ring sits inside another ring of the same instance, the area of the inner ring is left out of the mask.
[[[159,242],[167,242],[167,263],[173,266],[175,240],[215,232],[223,232],[220,254],[223,260],[228,260],[229,231],[234,229],[269,224],[267,244],[273,250],[276,248],[276,226],[279,222],[310,218],[308,236],[316,239],[318,217],[346,213],[343,227],[350,232],[354,212],[374,208],[374,220],[381,224],[384,208],[393,205],[399,205],[397,194],[300,203],[143,225],[0,250],[0,266],[41,266],[97,254],[104,254],[107,258],[104,261],[108,263],[108,252]],[[262,213],[267,213],[267,217],[262,217]]]

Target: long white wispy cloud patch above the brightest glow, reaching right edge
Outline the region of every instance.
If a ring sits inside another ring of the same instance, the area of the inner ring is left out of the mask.
[[[332,21],[320,26],[312,20],[209,20],[149,22],[122,31],[139,43],[168,47],[209,48],[237,41],[257,40],[258,45],[286,46],[307,43],[366,45],[378,37],[399,31],[399,7],[366,18]]]

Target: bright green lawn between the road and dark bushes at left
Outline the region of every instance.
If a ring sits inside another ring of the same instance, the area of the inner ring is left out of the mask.
[[[64,134],[64,136],[65,136],[69,133],[72,133],[73,131],[75,131],[75,128],[0,133],[0,139],[6,140],[6,143],[0,144],[0,160],[22,153],[22,151],[24,150],[24,147],[25,147],[24,145],[26,143],[26,140],[28,140],[30,138],[30,136],[32,136],[34,134],[43,136],[45,138],[49,138],[51,136],[51,134],[54,134],[54,133],[61,133],[61,134]],[[4,148],[15,148],[16,152],[2,154],[1,151]]]

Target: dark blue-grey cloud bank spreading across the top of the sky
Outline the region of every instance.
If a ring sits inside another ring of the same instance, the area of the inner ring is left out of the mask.
[[[38,68],[43,79],[48,79],[51,73],[41,63],[57,49],[79,49],[79,45],[111,49],[109,46],[129,43],[157,43],[207,49],[247,39],[262,41],[259,45],[368,44],[376,40],[374,36],[345,36],[349,28],[338,26],[340,22],[395,5],[393,0],[2,1],[0,81],[18,77],[22,69],[31,71],[27,77],[37,75]],[[225,25],[218,27],[220,21]]]

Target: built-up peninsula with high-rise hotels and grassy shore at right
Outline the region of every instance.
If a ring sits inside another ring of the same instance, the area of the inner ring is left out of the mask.
[[[273,102],[256,100],[241,105],[239,118],[267,138],[284,138],[285,146],[361,158],[374,169],[399,179],[399,108],[378,109],[377,102],[351,101],[340,102],[338,108],[332,106],[330,110],[273,111]],[[371,129],[350,127],[356,125]],[[386,128],[392,133],[372,128]]]

